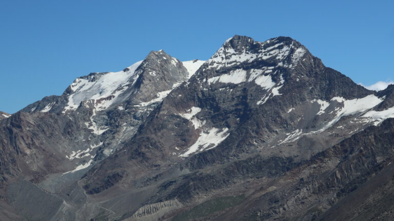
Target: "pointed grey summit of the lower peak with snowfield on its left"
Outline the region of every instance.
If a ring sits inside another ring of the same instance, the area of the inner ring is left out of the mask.
[[[114,107],[127,100],[133,104],[157,98],[188,79],[188,70],[165,51],[151,51],[143,61],[118,72],[91,73],[76,78],[64,95],[67,110],[75,110],[83,101],[94,99],[98,110]]]

